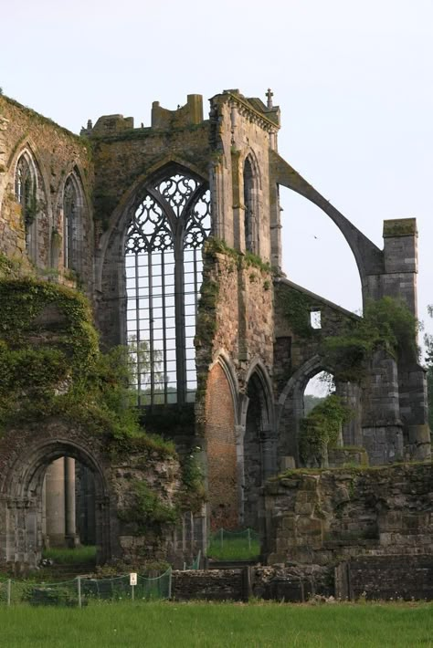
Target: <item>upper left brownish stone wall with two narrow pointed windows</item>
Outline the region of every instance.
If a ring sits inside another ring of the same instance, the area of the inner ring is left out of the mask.
[[[82,246],[80,277],[90,294],[93,279],[93,225],[90,192],[93,165],[86,141],[61,128],[53,121],[26,109],[16,101],[0,97],[0,252],[29,267],[26,256],[25,225],[21,205],[16,201],[16,162],[28,151],[37,172],[36,236],[40,272],[60,280],[66,275],[63,242],[63,190],[69,173],[76,170],[82,188]],[[58,243],[56,236],[60,238]],[[56,250],[53,248],[56,247]],[[58,256],[54,259],[53,256]]]

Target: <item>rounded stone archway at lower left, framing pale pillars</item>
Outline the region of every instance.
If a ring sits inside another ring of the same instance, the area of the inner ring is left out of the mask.
[[[48,465],[64,456],[87,466],[94,476],[97,563],[106,562],[112,555],[111,507],[100,458],[85,440],[66,434],[26,441],[25,450],[10,462],[0,491],[0,562],[14,564],[16,570],[37,566],[43,547],[44,476]]]

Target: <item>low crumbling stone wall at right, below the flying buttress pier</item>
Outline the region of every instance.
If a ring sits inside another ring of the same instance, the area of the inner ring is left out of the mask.
[[[433,553],[430,464],[292,471],[265,488],[270,563]]]

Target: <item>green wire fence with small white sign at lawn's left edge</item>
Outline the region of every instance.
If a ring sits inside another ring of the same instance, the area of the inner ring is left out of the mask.
[[[0,582],[0,605],[84,607],[91,601],[156,601],[172,595],[172,568],[155,578],[127,574],[109,579],[77,577],[56,583]]]

